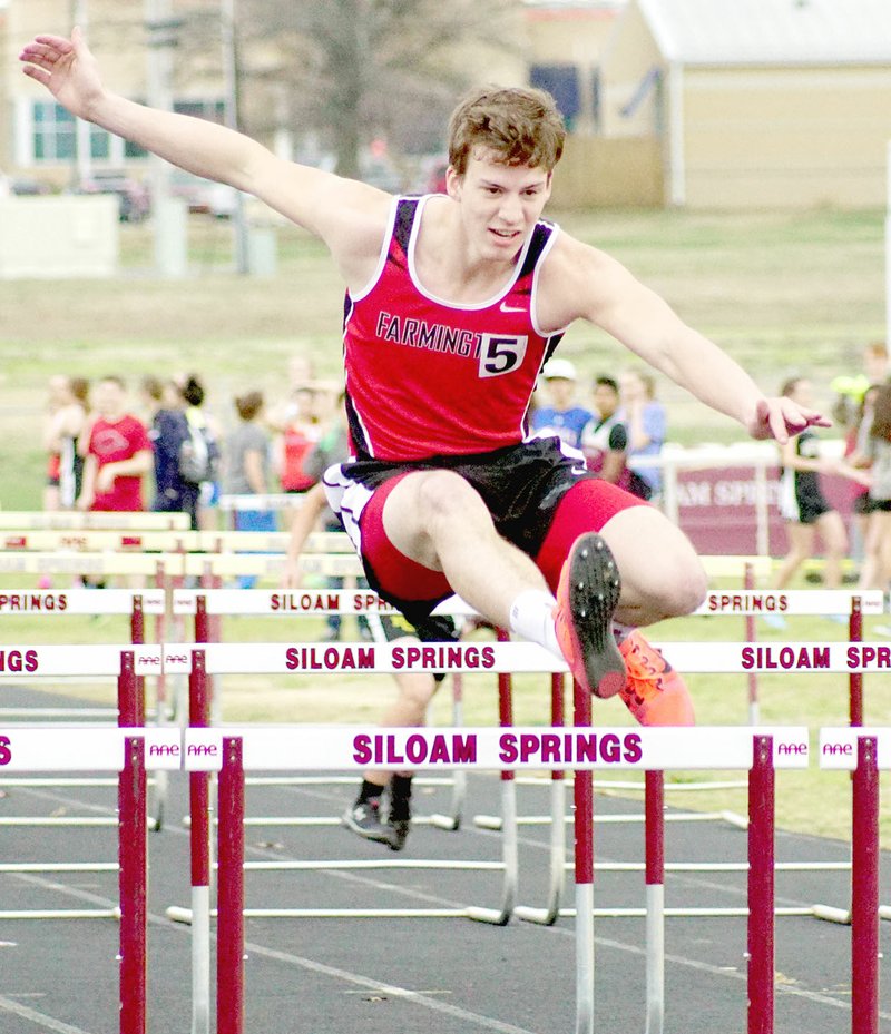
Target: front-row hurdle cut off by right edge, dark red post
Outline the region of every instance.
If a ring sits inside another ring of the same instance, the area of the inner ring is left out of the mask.
[[[879,1034],[879,920],[891,918],[880,905],[880,771],[891,769],[888,728],[820,730],[820,767],[851,776],[851,1034]]]

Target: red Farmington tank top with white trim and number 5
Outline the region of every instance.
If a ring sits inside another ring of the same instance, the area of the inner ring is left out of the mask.
[[[536,378],[562,332],[536,323],[538,270],[557,236],[539,221],[513,277],[472,305],[437,298],[414,272],[427,197],[396,198],[372,280],[346,295],[346,411],[359,459],[423,460],[516,445]]]

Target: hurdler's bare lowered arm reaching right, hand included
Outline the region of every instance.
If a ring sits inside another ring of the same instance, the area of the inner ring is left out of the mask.
[[[791,398],[767,397],[738,363],[620,263],[568,235],[548,257],[539,296],[542,326],[588,319],[755,439],[783,443],[807,426],[830,426],[821,413]]]

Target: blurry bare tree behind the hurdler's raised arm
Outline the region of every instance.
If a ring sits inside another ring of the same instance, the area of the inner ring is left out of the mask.
[[[345,176],[375,137],[403,152],[441,147],[457,93],[488,79],[483,45],[519,48],[517,0],[239,0],[238,11],[242,75],[275,97],[246,107],[248,130],[274,116],[314,131]]]

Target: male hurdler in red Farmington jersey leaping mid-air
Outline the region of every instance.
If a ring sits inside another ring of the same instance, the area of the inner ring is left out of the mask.
[[[683,680],[637,628],[695,609],[702,564],[655,508],[556,439],[526,440],[536,377],[586,319],[755,437],[828,422],[765,397],[619,263],[541,220],[565,138],[550,97],[476,91],[451,118],[447,194],[394,199],[110,92],[78,29],[37,37],[20,60],[71,114],[256,195],[325,243],[347,289],[354,450],[325,482],[383,597],[414,622],[456,592],[565,657],[596,696],[620,695],[642,723],[693,721]]]

